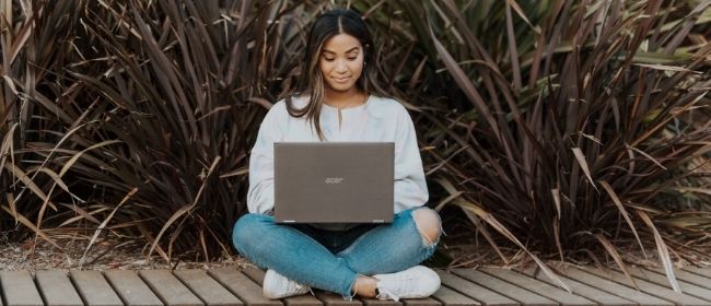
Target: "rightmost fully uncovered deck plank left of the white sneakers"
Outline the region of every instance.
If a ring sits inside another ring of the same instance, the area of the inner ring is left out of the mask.
[[[236,269],[213,269],[208,274],[236,295],[247,306],[281,306],[279,299],[269,299],[261,294],[261,286]]]

